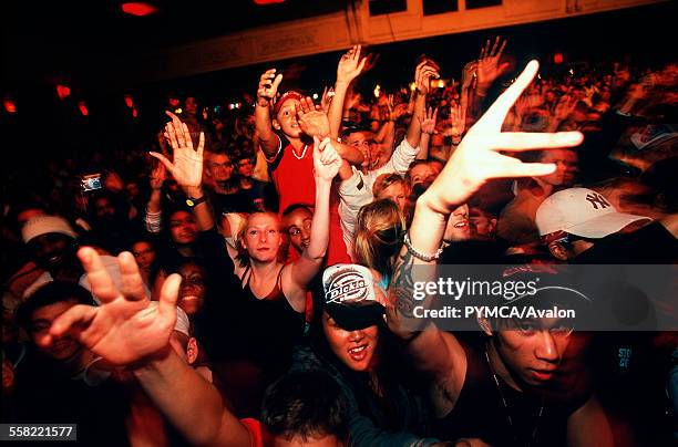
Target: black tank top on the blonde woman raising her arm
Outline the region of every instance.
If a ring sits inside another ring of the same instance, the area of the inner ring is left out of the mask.
[[[282,268],[274,289],[261,299],[249,287],[250,271],[248,267],[240,279],[247,278],[235,319],[242,343],[238,351],[244,358],[254,361],[266,372],[278,374],[287,370],[292,347],[301,340],[304,313],[295,311],[282,293]]]

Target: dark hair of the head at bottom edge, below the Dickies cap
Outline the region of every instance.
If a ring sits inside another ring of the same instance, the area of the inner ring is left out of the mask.
[[[322,371],[284,375],[266,391],[261,408],[266,429],[288,440],[333,435],[347,441],[348,418],[346,396]]]

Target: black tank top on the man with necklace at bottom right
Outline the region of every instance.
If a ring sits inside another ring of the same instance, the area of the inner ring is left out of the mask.
[[[434,422],[438,438],[480,438],[493,447],[566,446],[567,418],[578,405],[573,407],[545,401],[536,394],[518,392],[497,375],[507,404],[504,407],[484,350],[465,344],[462,346],[468,360],[464,385],[454,408]],[[512,424],[507,415],[511,415]]]

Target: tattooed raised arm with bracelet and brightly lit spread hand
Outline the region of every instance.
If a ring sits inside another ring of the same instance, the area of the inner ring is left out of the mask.
[[[436,377],[439,398],[456,396],[465,374],[465,354],[454,336],[428,325],[422,333],[412,325],[412,310],[419,302],[413,299],[412,267],[435,263],[445,224],[450,212],[480,189],[487,180],[502,177],[535,177],[553,173],[553,164],[526,164],[503,155],[501,150],[531,150],[572,147],[582,143],[578,132],[556,134],[502,133],[502,123],[523,90],[536,75],[538,63],[527,67],[471,127],[445,167],[417,201],[409,230],[409,247],[403,246],[394,267],[387,309],[389,328],[404,340],[408,351],[415,357],[418,368]],[[419,279],[419,278],[418,278]],[[425,304],[425,302],[424,302]],[[445,353],[441,355],[441,353]],[[439,402],[440,404],[440,402]],[[438,405],[439,410],[449,409]]]

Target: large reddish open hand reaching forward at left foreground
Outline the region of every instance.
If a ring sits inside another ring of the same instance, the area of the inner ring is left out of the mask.
[[[117,256],[123,290],[117,290],[96,251],[83,247],[78,257],[101,305],[79,304],[54,321],[48,342],[66,334],[114,365],[143,361],[165,349],[176,321],[176,298],[182,277],[171,274],[152,305],[132,253]]]

